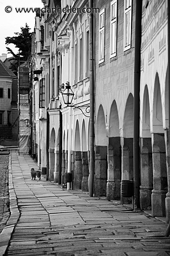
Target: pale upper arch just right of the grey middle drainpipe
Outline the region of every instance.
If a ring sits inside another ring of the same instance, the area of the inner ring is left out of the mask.
[[[98,146],[107,146],[106,139],[106,123],[105,123],[105,113],[102,105],[98,109],[98,116],[96,121],[96,145]]]

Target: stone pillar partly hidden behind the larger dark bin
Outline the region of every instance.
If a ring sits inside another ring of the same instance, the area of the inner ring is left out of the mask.
[[[133,138],[122,138],[122,180],[133,179]],[[121,196],[121,203],[131,203],[131,197]]]

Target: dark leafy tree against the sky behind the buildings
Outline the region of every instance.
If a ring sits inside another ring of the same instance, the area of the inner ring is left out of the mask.
[[[21,31],[15,32],[15,36],[6,37],[5,44],[13,44],[16,48],[18,48],[18,53],[14,54],[13,50],[9,47],[7,48],[7,52],[13,55],[13,58],[10,60],[10,69],[14,74],[17,74],[19,59],[20,61],[27,61],[31,54],[31,33],[29,32],[30,27],[26,24],[26,27],[21,27]]]

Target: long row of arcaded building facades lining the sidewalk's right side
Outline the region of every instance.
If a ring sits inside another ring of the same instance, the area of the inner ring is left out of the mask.
[[[131,196],[123,196],[121,182],[134,181],[140,208],[170,220],[168,1],[141,0],[136,6],[133,0],[98,0],[93,1],[95,10],[89,10],[88,0],[42,2],[46,12],[36,16],[32,57],[39,168],[47,179],[63,185],[65,173],[72,173],[72,188],[89,190],[93,59],[94,195],[132,202]],[[72,12],[72,8],[86,12]],[[87,10],[93,12],[92,38]],[[90,55],[90,40],[94,56]],[[74,95],[65,104],[62,95],[68,86]],[[134,127],[139,134],[137,152]]]

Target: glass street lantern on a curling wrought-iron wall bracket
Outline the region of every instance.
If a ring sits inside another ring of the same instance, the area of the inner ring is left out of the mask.
[[[80,107],[78,107],[77,105],[71,105],[73,97],[74,97],[74,93],[71,89],[69,82],[66,82],[66,87],[62,93],[62,97],[63,97],[63,101],[64,101],[65,105],[67,105],[67,107],[78,108],[83,113],[83,115],[85,115],[85,113],[83,112],[83,110]],[[90,106],[88,104],[81,105],[81,107],[86,107],[85,112],[90,113]],[[89,115],[85,115],[85,116],[90,117]]]

